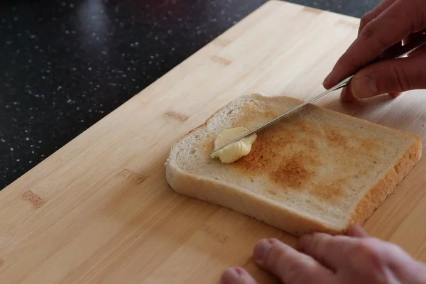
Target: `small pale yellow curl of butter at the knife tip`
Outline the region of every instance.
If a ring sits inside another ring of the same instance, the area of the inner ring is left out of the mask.
[[[234,139],[243,136],[247,132],[249,132],[249,129],[246,129],[245,127],[225,129],[216,137],[216,140],[214,141],[214,149],[221,148]],[[222,163],[234,163],[236,160],[239,160],[245,155],[249,155],[251,151],[251,145],[254,143],[254,141],[256,141],[256,138],[256,133],[253,133],[217,152],[212,153],[210,156],[212,158],[219,158]]]

